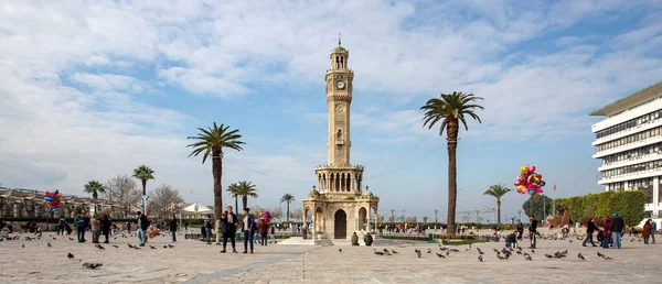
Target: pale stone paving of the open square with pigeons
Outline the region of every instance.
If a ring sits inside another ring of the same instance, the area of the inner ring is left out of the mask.
[[[127,245],[136,244],[136,238],[118,238],[99,250],[92,243],[53,237],[57,240],[44,233],[41,240],[0,242],[0,283],[659,283],[662,269],[662,245],[632,242],[628,237],[622,250],[585,248],[576,239],[542,240],[532,253],[533,261],[517,254],[506,261],[496,259],[492,249],[502,248],[503,242],[474,244],[469,251],[468,245],[449,247],[460,252],[440,259],[438,244],[424,242],[376,248],[271,244],[257,245],[255,254],[242,254],[243,248],[238,254],[221,254],[221,247],[192,240],[164,249],[170,243],[166,237],[150,239],[148,244],[156,249],[141,250]],[[373,249],[385,248],[398,253],[373,254]],[[476,248],[485,252],[483,262],[478,261]],[[420,259],[414,249],[423,250]],[[544,256],[566,249],[566,259]],[[613,260],[598,258],[598,251]],[[68,260],[67,252],[75,259]],[[578,252],[586,261],[577,259]],[[78,259],[104,265],[84,269]]]

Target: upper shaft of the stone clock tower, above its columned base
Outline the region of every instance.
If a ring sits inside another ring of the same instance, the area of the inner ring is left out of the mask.
[[[342,47],[340,39],[338,46],[329,56],[331,68],[327,69],[327,106],[329,107],[329,165],[349,166],[350,149],[350,103],[352,102],[352,81],[354,70],[348,67],[350,52]]]

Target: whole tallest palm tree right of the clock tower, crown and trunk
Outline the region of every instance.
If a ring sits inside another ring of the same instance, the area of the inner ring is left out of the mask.
[[[456,201],[458,195],[458,173],[457,173],[457,148],[460,123],[467,127],[465,116],[469,116],[481,122],[480,117],[476,114],[476,109],[483,109],[474,105],[477,100],[483,98],[473,96],[473,94],[462,94],[453,91],[452,94],[441,94],[441,98],[429,99],[425,106],[420,107],[425,111],[423,127],[431,129],[437,122],[439,125],[439,135],[446,131],[446,144],[448,146],[448,229],[447,231],[455,236]]]

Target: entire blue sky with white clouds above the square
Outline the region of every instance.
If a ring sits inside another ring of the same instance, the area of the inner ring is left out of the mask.
[[[482,193],[511,186],[527,163],[557,197],[601,190],[590,157],[600,118],[587,113],[662,79],[662,6],[522,3],[6,3],[0,183],[82,194],[148,164],[148,189],[212,204],[211,165],[184,145],[215,121],[247,143],[227,154],[224,186],[253,182],[249,204],[263,207],[285,193],[300,200],[327,162],[323,75],[342,33],[355,72],[352,163],[365,165],[381,212],[446,219],[445,140],[418,108],[453,90],[485,98],[483,123],[460,133],[458,210],[494,207]],[[503,216],[524,200],[509,194]]]

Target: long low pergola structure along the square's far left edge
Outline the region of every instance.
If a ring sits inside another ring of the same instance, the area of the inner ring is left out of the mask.
[[[92,199],[75,195],[61,195],[62,209],[50,215],[46,206],[44,192],[36,189],[0,187],[0,218],[73,218],[76,211],[89,211],[90,206],[96,205],[99,212],[110,209],[110,217],[127,217],[134,209],[130,205],[117,205],[104,199]],[[135,211],[135,210],[134,210]]]

